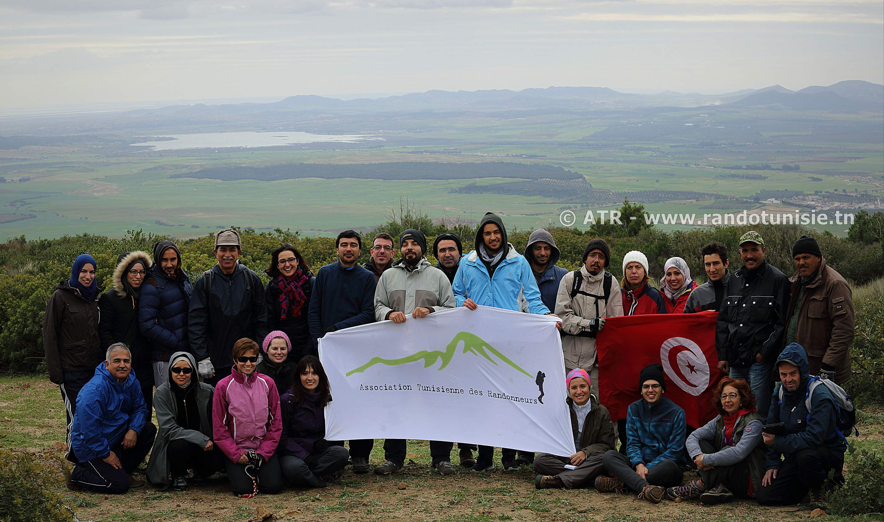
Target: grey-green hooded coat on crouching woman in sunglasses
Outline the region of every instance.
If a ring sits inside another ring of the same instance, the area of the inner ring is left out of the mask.
[[[173,386],[178,386],[172,379],[171,369],[166,371],[166,381],[156,388],[154,395],[154,408],[156,409],[156,439],[154,448],[150,450],[148,462],[148,480],[155,486],[169,487],[169,460],[168,449],[171,441],[187,441],[200,448],[205,448],[206,443],[212,439],[212,394],[215,388],[200,382],[197,379],[196,359],[186,351],[177,351],[171,354],[170,360],[179,356],[187,357],[187,361],[194,372],[191,372],[190,382],[194,386],[188,395],[194,397],[196,407],[200,411],[200,429],[189,430],[178,424],[178,401],[172,391]],[[187,401],[187,398],[185,399]]]

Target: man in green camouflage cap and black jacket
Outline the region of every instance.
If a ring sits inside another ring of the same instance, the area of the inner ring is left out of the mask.
[[[749,382],[758,415],[767,418],[773,361],[782,351],[789,307],[789,278],[765,262],[765,240],[750,230],[740,237],[743,266],[728,280],[719,310],[715,347],[719,369]]]

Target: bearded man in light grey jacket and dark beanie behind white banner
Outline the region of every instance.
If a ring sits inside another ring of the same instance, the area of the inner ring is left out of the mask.
[[[402,231],[399,236],[402,257],[381,275],[375,290],[375,319],[404,323],[409,313],[412,318],[423,319],[434,311],[454,307],[451,284],[444,273],[434,270],[423,252],[427,240],[414,228]],[[433,467],[442,475],[453,475],[451,465],[452,442],[430,441]],[[377,466],[378,475],[399,472],[405,463],[404,439],[386,439],[385,463]]]

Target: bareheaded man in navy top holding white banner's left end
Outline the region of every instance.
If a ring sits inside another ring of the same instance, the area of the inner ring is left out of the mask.
[[[353,230],[338,234],[335,242],[338,260],[316,272],[307,321],[314,340],[329,332],[375,321],[375,288],[373,273],[356,265],[362,238]],[[350,441],[353,472],[369,472],[369,457],[375,441]]]

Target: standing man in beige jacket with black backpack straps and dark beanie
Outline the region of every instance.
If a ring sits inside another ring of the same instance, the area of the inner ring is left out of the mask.
[[[561,348],[565,372],[575,368],[591,369],[592,393],[598,396],[598,361],[596,334],[605,319],[623,315],[620,284],[606,267],[611,249],[601,239],[591,240],[583,251],[583,266],[569,272],[559,283],[555,314],[561,318]]]

